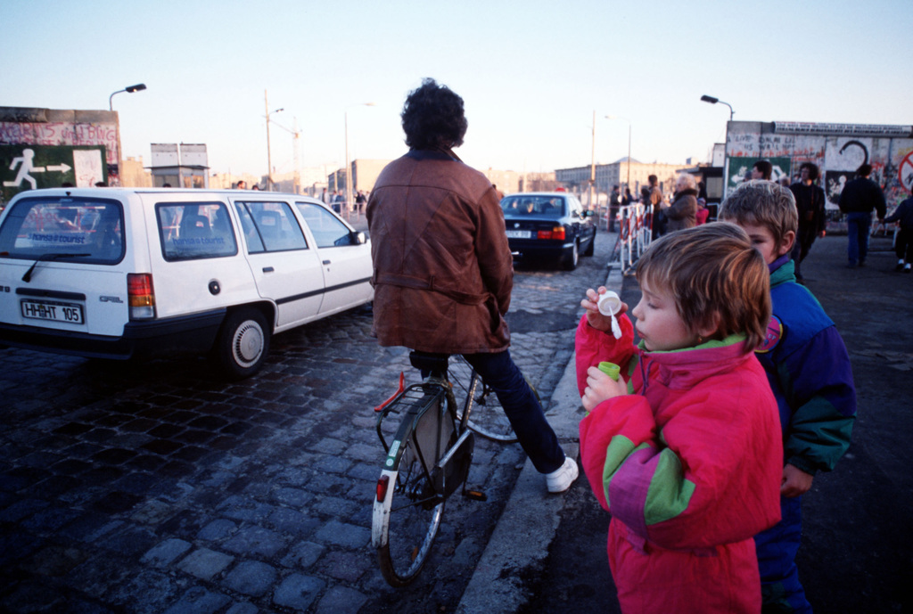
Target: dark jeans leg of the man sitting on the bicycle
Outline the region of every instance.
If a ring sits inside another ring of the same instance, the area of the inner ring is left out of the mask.
[[[463,357],[498,395],[523,452],[530,457],[536,470],[540,474],[558,470],[564,463],[558,436],[545,419],[545,412],[523,374],[510,359],[509,350],[464,354]]]

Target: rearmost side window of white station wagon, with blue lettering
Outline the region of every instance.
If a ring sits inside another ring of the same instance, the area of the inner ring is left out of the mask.
[[[225,203],[158,203],[155,212],[165,260],[237,254],[235,231]]]

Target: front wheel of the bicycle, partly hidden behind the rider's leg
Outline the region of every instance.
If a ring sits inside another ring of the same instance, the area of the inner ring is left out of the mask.
[[[498,401],[498,395],[485,386],[466,359],[462,356],[451,357],[447,377],[456,396],[457,420],[462,420],[463,413],[468,410],[467,426],[470,431],[495,442],[517,441],[517,435],[513,432],[508,416]],[[535,392],[536,389],[532,390]]]

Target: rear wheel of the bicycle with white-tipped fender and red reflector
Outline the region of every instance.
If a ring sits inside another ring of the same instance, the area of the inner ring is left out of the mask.
[[[445,495],[435,484],[441,477],[434,468],[455,435],[443,405],[436,402],[403,442],[394,441],[387,462],[399,458],[378,480],[372,543],[383,578],[393,587],[406,586],[425,567],[444,514]]]

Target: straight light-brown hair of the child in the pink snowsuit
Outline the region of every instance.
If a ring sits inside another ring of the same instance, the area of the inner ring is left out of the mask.
[[[666,234],[637,261],[637,279],[674,297],[692,333],[743,333],[745,350],[761,345],[771,319],[770,274],[761,252],[736,224],[717,222]]]

